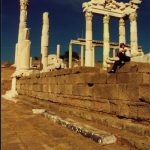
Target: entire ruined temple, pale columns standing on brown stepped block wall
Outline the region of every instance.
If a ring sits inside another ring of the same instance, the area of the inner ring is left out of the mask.
[[[16,71],[12,75],[11,90],[6,92],[4,98],[15,102],[17,98],[23,104],[30,105],[30,108],[42,108],[32,111],[34,114],[43,114],[53,122],[99,144],[121,143],[130,145],[131,149],[149,150],[150,63],[130,62],[116,74],[108,74],[105,71],[116,59],[115,50],[119,44],[126,43],[125,18],[130,20],[131,41],[126,46],[131,49],[132,57],[143,54],[138,45],[136,21],[136,11],[140,3],[140,0],[130,0],[129,3],[91,0],[83,3],[86,35],[85,39],[70,41],[69,68],[66,68],[60,57],[60,44],[57,44],[56,54],[48,53],[49,13],[43,13],[42,68],[34,70],[27,28],[28,0],[20,0],[19,34],[15,51]],[[94,14],[103,16],[103,41],[93,40]],[[119,20],[118,43],[110,42],[111,17]],[[72,64],[73,45],[81,46],[80,67],[73,67]],[[95,67],[96,47],[103,47],[103,66],[99,68]],[[96,127],[86,123],[96,124]]]

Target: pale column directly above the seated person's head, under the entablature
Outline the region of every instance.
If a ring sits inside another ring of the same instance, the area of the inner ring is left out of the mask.
[[[119,43],[126,43],[125,21],[123,18],[119,20]]]

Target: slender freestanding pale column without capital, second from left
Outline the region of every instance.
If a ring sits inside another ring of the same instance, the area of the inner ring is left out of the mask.
[[[43,13],[43,29],[42,29],[42,38],[41,38],[41,54],[42,54],[43,71],[47,71],[48,46],[49,46],[49,17],[48,17],[48,12],[45,12]]]

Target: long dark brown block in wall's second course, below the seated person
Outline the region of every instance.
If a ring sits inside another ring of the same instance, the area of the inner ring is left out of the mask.
[[[118,73],[117,83],[135,83],[141,84],[143,82],[142,73]]]

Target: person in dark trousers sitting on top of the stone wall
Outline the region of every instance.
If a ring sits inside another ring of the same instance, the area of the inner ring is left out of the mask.
[[[118,57],[119,57],[119,60],[115,61],[114,65],[113,65],[111,71],[109,71],[109,73],[115,73],[118,66],[121,67],[122,65],[125,64],[125,62],[130,61],[131,53],[130,53],[129,49],[125,47],[124,43],[120,44],[120,50],[118,53]]]

